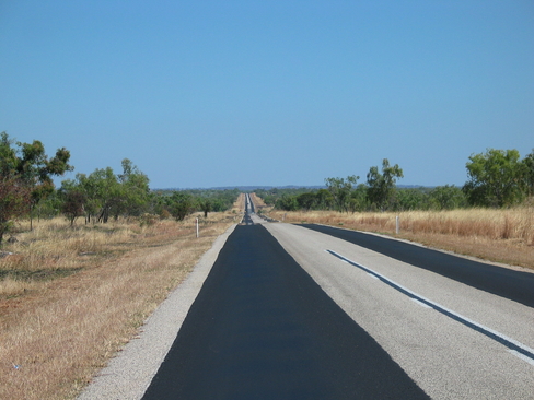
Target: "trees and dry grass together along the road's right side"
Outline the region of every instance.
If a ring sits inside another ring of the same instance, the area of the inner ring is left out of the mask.
[[[472,155],[463,187],[397,188],[403,170],[387,160],[359,176],[326,178],[320,189],[258,189],[260,212],[397,235],[436,248],[534,269],[534,151],[488,149]],[[396,234],[396,217],[399,233]]]

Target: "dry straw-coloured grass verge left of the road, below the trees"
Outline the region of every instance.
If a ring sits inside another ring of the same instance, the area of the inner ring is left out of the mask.
[[[201,219],[199,238],[199,215],[144,227],[71,230],[60,219],[20,226],[19,242],[3,249],[13,255],[0,259],[0,399],[76,397],[239,212]]]

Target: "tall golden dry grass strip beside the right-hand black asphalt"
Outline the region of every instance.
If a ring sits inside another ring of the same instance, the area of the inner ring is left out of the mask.
[[[471,209],[400,213],[341,214],[328,211],[271,211],[285,222],[320,223],[395,235],[427,246],[490,261],[534,269],[534,207],[510,210]]]

